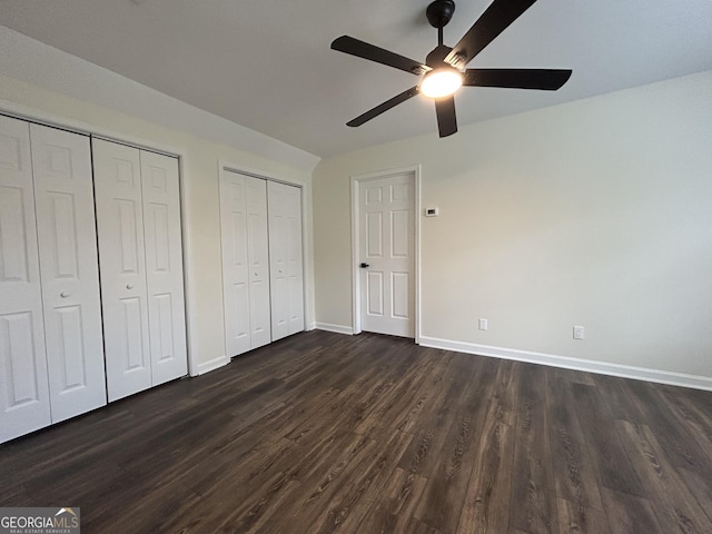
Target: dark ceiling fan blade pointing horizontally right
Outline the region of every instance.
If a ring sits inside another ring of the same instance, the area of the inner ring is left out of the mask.
[[[463,86],[555,91],[571,78],[564,69],[467,69]]]

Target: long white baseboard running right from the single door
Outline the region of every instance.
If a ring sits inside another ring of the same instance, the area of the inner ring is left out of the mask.
[[[439,339],[437,337],[427,336],[421,336],[421,345],[424,347],[442,348],[445,350],[476,354],[479,356],[491,356],[495,358],[515,359],[517,362],[526,362],[530,364],[562,367],[564,369],[585,370],[587,373],[597,373],[600,375],[621,376],[623,378],[633,378],[636,380],[712,390],[712,377],[709,376],[686,375],[670,370],[647,369],[645,367],[634,367],[632,365],[610,364],[592,359],[555,356],[553,354],[533,353],[516,348],[492,347],[490,345],[453,342],[449,339]]]

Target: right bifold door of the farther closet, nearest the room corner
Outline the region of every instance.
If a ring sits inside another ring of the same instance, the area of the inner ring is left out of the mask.
[[[304,330],[301,189],[270,181],[269,273],[273,340]]]

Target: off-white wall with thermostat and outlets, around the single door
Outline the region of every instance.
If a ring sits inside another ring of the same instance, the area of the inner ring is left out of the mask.
[[[422,207],[441,211],[422,219],[425,344],[712,388],[710,88],[701,72],[446,139],[434,119],[323,160],[317,323],[352,325],[349,177],[419,164]]]

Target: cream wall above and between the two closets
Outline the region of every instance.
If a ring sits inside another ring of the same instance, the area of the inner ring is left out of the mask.
[[[194,373],[225,363],[219,160],[305,186],[306,319],[307,324],[314,322],[310,182],[318,158],[2,27],[0,49],[0,111],[51,119],[182,156],[186,296]]]

